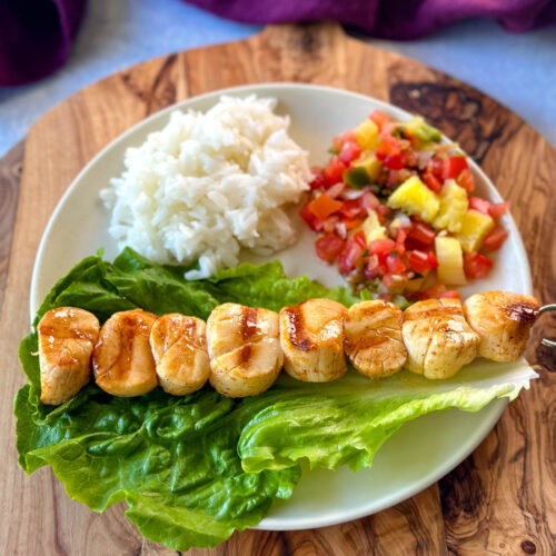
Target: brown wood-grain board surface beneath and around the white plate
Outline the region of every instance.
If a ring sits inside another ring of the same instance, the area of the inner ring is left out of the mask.
[[[556,300],[556,151],[516,115],[465,83],[350,39],[335,24],[269,27],[244,41],[158,58],[111,76],[39,119],[23,160],[20,145],[0,162],[0,554],[172,553],[145,540],[123,517],[123,504],[95,514],[70,500],[50,469],[26,477],[17,466],[11,408],[24,384],[17,346],[29,329],[32,262],[62,192],[110,140],[187,97],[265,81],[370,95],[424,115],[459,141],[513,202],[536,295]],[[528,360],[539,365],[540,379],[438,485],[357,522],[305,532],[247,530],[190,554],[554,554],[556,360],[539,338],[554,339],[555,322],[544,316],[530,344]]]

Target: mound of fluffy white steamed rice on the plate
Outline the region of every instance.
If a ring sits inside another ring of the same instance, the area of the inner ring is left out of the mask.
[[[125,156],[101,198],[109,232],[159,264],[198,260],[188,279],[238,264],[241,248],[270,255],[290,245],[284,206],[308,189],[307,152],[289,136],[276,100],[221,97],[206,113],[176,111]]]

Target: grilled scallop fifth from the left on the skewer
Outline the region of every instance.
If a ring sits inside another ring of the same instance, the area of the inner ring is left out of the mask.
[[[308,299],[280,311],[284,368],[306,383],[328,383],[346,370],[344,318],[347,309],[330,299]]]

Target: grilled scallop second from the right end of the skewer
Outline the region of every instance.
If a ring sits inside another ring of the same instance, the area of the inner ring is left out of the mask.
[[[479,336],[457,299],[427,299],[404,311],[406,367],[426,378],[449,378],[477,355]]]

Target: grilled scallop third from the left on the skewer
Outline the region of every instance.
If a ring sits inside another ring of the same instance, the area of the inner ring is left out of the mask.
[[[203,320],[177,312],[152,325],[149,342],[165,391],[185,396],[205,386],[210,374],[206,334]]]

